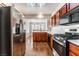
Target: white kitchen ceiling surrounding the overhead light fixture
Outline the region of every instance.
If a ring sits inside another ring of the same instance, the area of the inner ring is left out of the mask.
[[[14,6],[23,14],[51,14],[59,5],[59,3],[45,3],[43,7],[31,7],[29,4],[31,3],[15,3]]]

